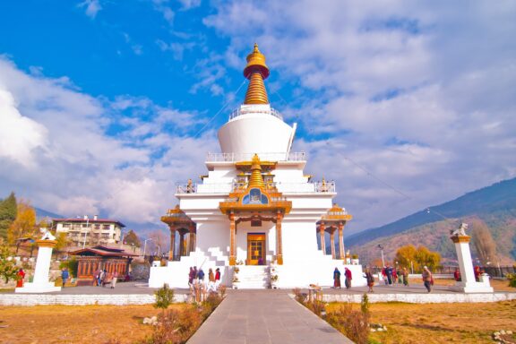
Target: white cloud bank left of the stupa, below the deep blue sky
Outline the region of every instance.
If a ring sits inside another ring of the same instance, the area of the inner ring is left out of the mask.
[[[214,133],[187,136],[202,125],[196,114],[146,98],[96,99],[5,58],[0,113],[0,193],[64,216],[159,224],[176,183],[195,179],[203,147],[216,145]]]

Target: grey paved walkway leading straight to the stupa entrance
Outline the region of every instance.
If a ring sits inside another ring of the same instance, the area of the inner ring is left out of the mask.
[[[238,290],[188,344],[352,343],[284,290]]]

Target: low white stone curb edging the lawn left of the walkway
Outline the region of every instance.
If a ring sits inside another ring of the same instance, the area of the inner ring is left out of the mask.
[[[176,303],[185,302],[188,296],[176,294]],[[116,295],[45,295],[45,294],[4,294],[0,295],[0,305],[149,305],[156,301],[149,294]]]

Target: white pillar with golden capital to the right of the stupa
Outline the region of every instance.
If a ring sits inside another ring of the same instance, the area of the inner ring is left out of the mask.
[[[452,241],[455,243],[457,250],[457,259],[459,260],[460,282],[456,282],[452,287],[464,293],[492,293],[494,289],[485,282],[477,282],[475,280],[475,272],[473,271],[473,261],[471,260],[471,252],[469,251],[469,239],[471,236],[455,235]]]

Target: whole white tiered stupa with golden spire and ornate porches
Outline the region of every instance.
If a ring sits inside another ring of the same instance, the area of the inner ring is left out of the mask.
[[[208,153],[201,184],[177,186],[179,204],[161,218],[171,230],[171,251],[167,266],[151,268],[152,288],[187,288],[192,266],[206,275],[219,268],[222,283],[238,288],[268,288],[271,280],[279,288],[331,286],[336,267],[343,275],[342,232],[351,216],[332,203],[335,184],[312,182],[305,153],[290,150],[296,124],[269,104],[269,69],[256,45],[244,75],[244,104],[219,130],[222,152]],[[325,232],[340,235],[331,253]],[[346,266],[353,286],[366,284],[359,265]]]

